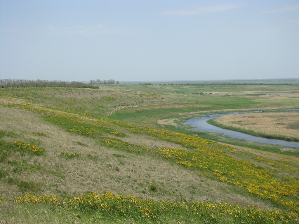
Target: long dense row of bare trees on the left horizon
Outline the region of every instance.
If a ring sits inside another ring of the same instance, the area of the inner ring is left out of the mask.
[[[73,87],[73,88],[90,88],[98,89],[98,86],[86,84],[83,82],[68,82],[60,80],[26,80],[26,79],[0,79],[1,88],[28,88],[28,87]]]

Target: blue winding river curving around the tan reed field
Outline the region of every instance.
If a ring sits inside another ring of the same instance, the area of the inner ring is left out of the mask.
[[[299,142],[288,142],[284,140],[278,140],[278,139],[267,139],[263,137],[257,137],[252,136],[249,134],[244,134],[242,132],[238,131],[232,131],[228,129],[223,129],[216,127],[214,125],[210,125],[207,123],[207,120],[213,119],[215,117],[228,115],[228,114],[236,114],[236,113],[254,113],[254,112],[262,112],[262,111],[246,111],[246,112],[234,112],[234,113],[219,113],[219,114],[205,114],[205,117],[199,117],[199,118],[191,118],[184,122],[184,124],[192,125],[194,130],[199,131],[208,131],[208,132],[214,132],[219,134],[224,134],[227,136],[230,136],[231,138],[238,138],[238,139],[244,139],[246,141],[252,141],[252,142],[261,142],[261,143],[269,143],[274,145],[282,145],[285,147],[294,147],[299,148]]]

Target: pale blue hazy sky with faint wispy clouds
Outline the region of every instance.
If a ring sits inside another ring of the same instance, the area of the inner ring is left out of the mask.
[[[0,0],[0,79],[299,78],[298,0]]]

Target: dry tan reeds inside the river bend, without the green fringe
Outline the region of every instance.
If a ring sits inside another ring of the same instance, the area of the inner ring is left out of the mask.
[[[231,114],[217,117],[214,120],[226,126],[254,132],[294,138],[299,136],[298,129],[289,128],[290,125],[299,123],[298,112]]]

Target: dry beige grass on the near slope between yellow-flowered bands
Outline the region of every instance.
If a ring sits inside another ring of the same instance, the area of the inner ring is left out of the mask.
[[[40,171],[26,170],[21,174],[8,171],[12,178],[39,183],[41,190],[34,193],[72,196],[87,191],[105,190],[159,200],[178,200],[182,195],[187,200],[226,201],[241,206],[256,205],[261,208],[271,206],[267,201],[242,194],[236,186],[210,179],[204,173],[186,169],[161,156],[132,154],[102,147],[97,143],[97,139],[65,132],[48,124],[35,113],[1,107],[0,119],[3,125],[1,129],[5,127],[5,130],[19,135],[18,139],[6,137],[6,141],[26,142],[28,139],[38,139],[39,146],[45,149],[43,156],[28,160],[28,164],[40,165]],[[33,132],[42,132],[46,136],[36,137]],[[152,148],[178,146],[148,136],[131,135],[123,138],[127,142],[130,142],[130,139],[132,143],[137,142]],[[77,141],[86,146],[78,145]],[[60,156],[62,151],[77,152],[80,157],[65,159]],[[98,159],[90,160],[87,157],[88,153],[98,156]],[[150,191],[149,182],[155,184],[157,192]],[[2,196],[9,198],[22,193],[15,185],[5,182],[0,182],[0,192]]]

